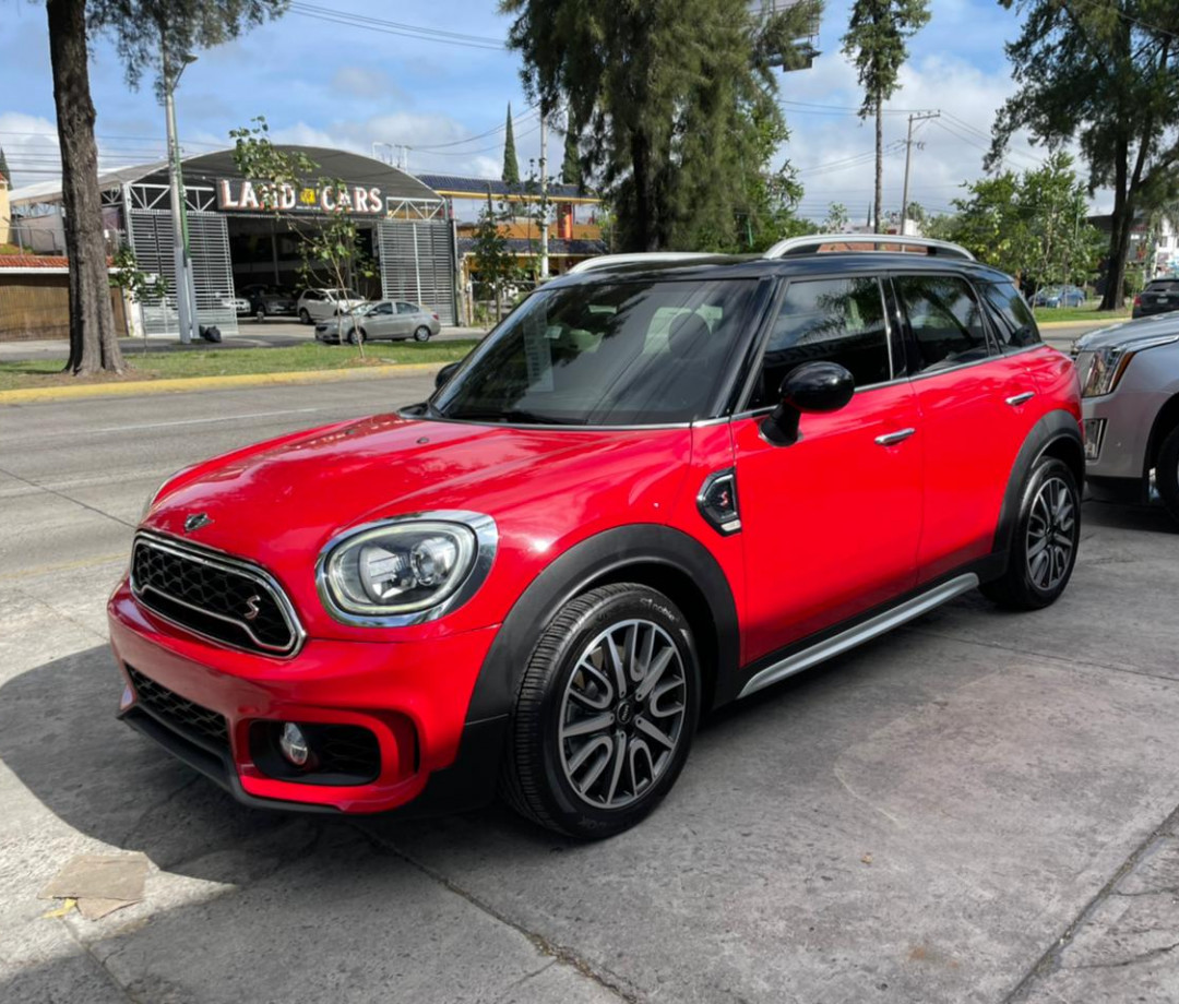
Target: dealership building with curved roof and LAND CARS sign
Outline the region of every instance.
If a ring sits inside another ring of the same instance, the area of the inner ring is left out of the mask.
[[[376,264],[376,277],[361,292],[371,297],[420,303],[454,324],[457,309],[457,252],[447,200],[422,181],[388,164],[356,153],[309,146],[281,146],[318,165],[322,178],[283,185],[278,212],[264,205],[264,189],[243,178],[232,151],[184,159],[189,249],[199,322],[225,333],[237,330],[235,292],[255,284],[297,289],[302,275],[301,244],[316,226],[340,211],[360,230],[361,249]],[[103,224],[111,246],[125,242],[139,267],[163,276],[174,289],[174,249],[167,163],[158,161],[101,172]],[[38,220],[51,229],[60,223],[61,185],[47,181],[11,192],[14,217],[28,231]],[[312,285],[332,286],[328,275]],[[361,285],[361,283],[357,283]],[[178,329],[174,303],[165,298],[144,304],[149,333]]]

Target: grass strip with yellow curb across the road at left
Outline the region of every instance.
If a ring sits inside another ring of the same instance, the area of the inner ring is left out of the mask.
[[[137,379],[178,379],[200,376],[238,376],[241,374],[279,374],[296,370],[338,370],[360,366],[394,366],[407,363],[452,363],[461,359],[476,344],[473,338],[456,342],[374,343],[364,346],[364,359],[354,345],[324,345],[320,342],[281,349],[218,349],[215,345],[174,348],[167,351],[139,352],[136,344],[123,339],[123,358],[127,372],[120,377],[79,378],[61,372],[61,359],[0,362],[0,390],[27,387],[74,387],[81,383],[114,383]]]

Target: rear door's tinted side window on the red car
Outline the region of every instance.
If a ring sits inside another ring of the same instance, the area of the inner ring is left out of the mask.
[[[990,355],[974,291],[957,276],[900,276],[897,295],[909,316],[917,371],[974,363]]]

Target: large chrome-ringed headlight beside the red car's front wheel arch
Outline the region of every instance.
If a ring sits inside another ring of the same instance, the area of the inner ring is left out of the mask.
[[[422,513],[360,527],[321,555],[321,596],[345,623],[433,620],[474,594],[495,543],[494,521],[476,513]]]

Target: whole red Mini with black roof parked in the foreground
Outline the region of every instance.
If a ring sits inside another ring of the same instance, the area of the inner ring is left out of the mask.
[[[429,401],[177,474],[110,603],[120,715],[249,805],[607,837],[711,708],[975,587],[1052,603],[1072,364],[962,249],[845,239],[587,263]]]

